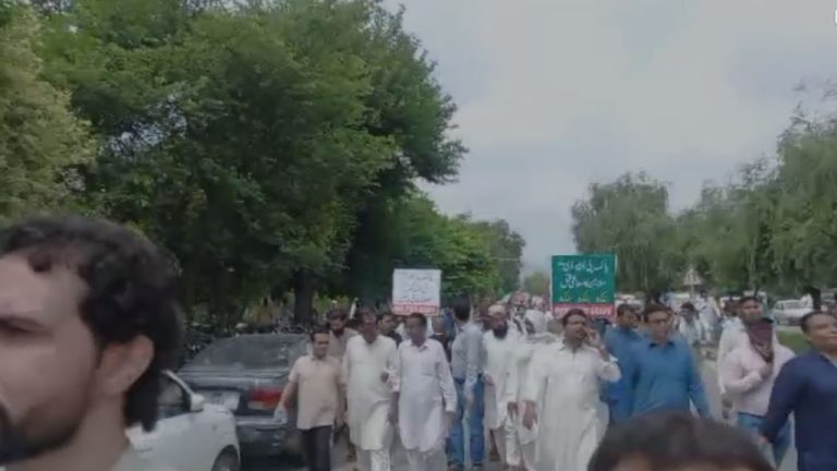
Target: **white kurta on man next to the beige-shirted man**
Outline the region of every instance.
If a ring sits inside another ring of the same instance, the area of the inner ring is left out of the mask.
[[[388,375],[386,382],[381,381],[384,373]],[[389,447],[392,384],[398,381],[398,350],[391,338],[378,336],[372,343],[363,336],[349,339],[343,354],[347,424],[357,448],[378,450]]]

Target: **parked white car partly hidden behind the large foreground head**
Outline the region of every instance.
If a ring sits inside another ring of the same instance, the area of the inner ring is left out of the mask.
[[[154,431],[128,431],[140,455],[178,471],[241,469],[235,418],[229,409],[206,403],[171,372],[163,376],[159,408]]]

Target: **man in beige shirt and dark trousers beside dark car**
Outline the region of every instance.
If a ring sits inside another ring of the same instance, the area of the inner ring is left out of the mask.
[[[296,410],[302,455],[310,471],[331,469],[331,435],[343,421],[343,379],[338,360],[328,354],[327,328],[311,333],[312,353],[291,369],[279,410]]]

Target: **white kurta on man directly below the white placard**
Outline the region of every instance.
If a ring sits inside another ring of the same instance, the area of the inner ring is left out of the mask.
[[[445,412],[457,411],[457,389],[445,348],[427,339],[421,347],[404,340],[398,348],[399,432],[408,450],[444,449],[448,427]]]

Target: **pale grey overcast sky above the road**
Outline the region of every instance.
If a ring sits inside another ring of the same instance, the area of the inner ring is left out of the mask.
[[[471,149],[446,213],[505,218],[527,267],[572,253],[591,182],[646,170],[675,209],[772,155],[800,81],[837,80],[837,1],[405,0]]]

